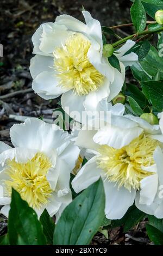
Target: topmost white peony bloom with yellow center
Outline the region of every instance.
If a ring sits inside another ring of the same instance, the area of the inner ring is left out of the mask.
[[[128,40],[116,54],[121,72],[103,56],[102,29],[99,21],[83,11],[86,24],[69,15],[54,23],[42,24],[32,37],[36,54],[30,63],[32,88],[43,99],[60,95],[67,114],[82,113],[91,104],[112,100],[121,90],[125,66],[138,60],[135,53],[124,54],[135,44]],[[123,64],[124,63],[124,64]],[[69,107],[69,111],[65,107]],[[71,115],[73,117],[73,115]]]

